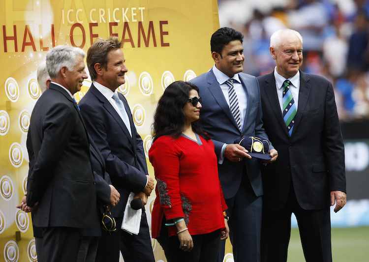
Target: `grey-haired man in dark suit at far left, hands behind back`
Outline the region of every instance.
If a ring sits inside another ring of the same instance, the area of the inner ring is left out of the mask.
[[[46,57],[51,84],[35,104],[27,146],[32,165],[27,204],[43,228],[43,261],[77,260],[81,229],[98,227],[86,127],[73,94],[87,78],[79,48],[58,46]]]

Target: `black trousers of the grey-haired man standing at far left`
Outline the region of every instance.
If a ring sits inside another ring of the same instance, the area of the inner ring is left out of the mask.
[[[38,261],[77,261],[80,239],[80,229],[66,227],[45,228],[42,241],[42,260]]]

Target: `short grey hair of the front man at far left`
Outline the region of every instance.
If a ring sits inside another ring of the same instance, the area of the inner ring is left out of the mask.
[[[56,78],[62,67],[73,70],[77,56],[85,58],[85,52],[78,47],[60,45],[54,47],[46,55],[46,67],[50,78]]]

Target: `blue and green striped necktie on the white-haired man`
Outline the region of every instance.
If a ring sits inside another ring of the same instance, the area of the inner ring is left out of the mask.
[[[283,120],[288,129],[288,135],[292,135],[293,126],[295,125],[295,116],[297,113],[295,101],[290,90],[291,82],[285,80],[283,82]]]

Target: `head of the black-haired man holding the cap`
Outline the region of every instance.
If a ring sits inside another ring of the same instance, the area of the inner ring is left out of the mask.
[[[217,29],[210,40],[215,66],[229,77],[244,70],[244,36],[232,28]]]

